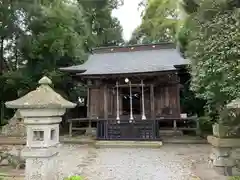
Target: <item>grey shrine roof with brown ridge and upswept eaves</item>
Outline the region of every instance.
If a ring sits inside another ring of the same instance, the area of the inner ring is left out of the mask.
[[[78,75],[110,75],[175,70],[185,65],[174,44],[152,44],[125,47],[98,48],[82,65],[61,68]]]

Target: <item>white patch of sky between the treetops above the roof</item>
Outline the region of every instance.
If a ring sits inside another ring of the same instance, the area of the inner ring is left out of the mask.
[[[124,5],[112,12],[123,27],[124,40],[129,40],[134,29],[141,24],[141,11],[138,10],[140,2],[141,0],[124,0]]]

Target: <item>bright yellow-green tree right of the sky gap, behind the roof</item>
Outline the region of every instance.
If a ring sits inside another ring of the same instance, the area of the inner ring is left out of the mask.
[[[134,31],[129,43],[174,42],[179,22],[178,1],[148,0],[142,24]]]

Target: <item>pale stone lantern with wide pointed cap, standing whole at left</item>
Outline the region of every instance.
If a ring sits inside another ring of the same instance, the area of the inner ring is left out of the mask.
[[[49,85],[43,77],[40,86],[25,96],[6,102],[8,108],[16,108],[24,118],[27,144],[22,151],[26,159],[25,180],[56,180],[56,161],[59,144],[59,123],[66,108],[76,104],[67,101]]]

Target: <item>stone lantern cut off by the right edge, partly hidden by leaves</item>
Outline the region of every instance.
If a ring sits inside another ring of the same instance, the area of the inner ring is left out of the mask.
[[[239,113],[240,99],[231,101],[226,107]],[[237,116],[235,115],[235,117]],[[235,120],[236,124],[229,127],[215,124],[213,126],[213,136],[208,136],[208,142],[212,145],[212,152],[209,157],[210,163],[217,173],[225,176],[240,175],[240,138],[239,136],[228,135],[229,131],[239,127],[239,119]],[[226,118],[225,121],[231,123],[231,119]]]

